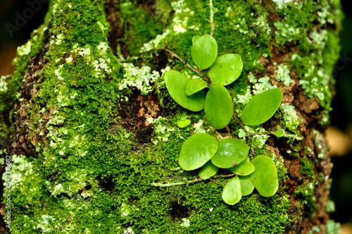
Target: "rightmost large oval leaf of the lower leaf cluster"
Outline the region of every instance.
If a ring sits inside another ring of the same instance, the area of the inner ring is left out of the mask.
[[[251,164],[256,168],[251,173],[251,180],[260,195],[264,197],[275,195],[279,187],[279,180],[274,161],[268,156],[258,155],[252,159]]]

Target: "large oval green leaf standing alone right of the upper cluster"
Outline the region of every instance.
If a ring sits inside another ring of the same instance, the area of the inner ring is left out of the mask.
[[[279,108],[282,97],[283,94],[279,88],[257,94],[244,106],[242,123],[253,126],[268,121]]]

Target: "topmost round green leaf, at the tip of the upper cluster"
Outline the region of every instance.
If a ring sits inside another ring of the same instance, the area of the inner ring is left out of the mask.
[[[192,38],[191,57],[200,70],[209,68],[218,56],[218,44],[210,35]]]

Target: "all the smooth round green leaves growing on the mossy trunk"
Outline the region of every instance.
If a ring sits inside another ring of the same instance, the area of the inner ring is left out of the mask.
[[[206,70],[205,79],[189,79],[177,70],[164,75],[168,92],[177,104],[190,111],[204,109],[208,122],[215,129],[225,128],[232,119],[233,104],[230,93],[224,87],[239,78],[243,63],[238,54],[218,56],[218,45],[210,35],[192,39],[191,57],[199,71]],[[208,92],[204,89],[208,87]],[[260,125],[268,121],[282,101],[278,88],[254,96],[244,106],[241,122],[244,125]],[[187,117],[177,121],[180,128],[189,125]],[[279,130],[280,131],[280,130]],[[283,130],[275,133],[282,136]],[[225,168],[236,174],[222,191],[222,199],[230,205],[236,204],[242,196],[253,192],[254,187],[264,197],[275,195],[278,188],[277,170],[270,157],[265,155],[249,159],[249,145],[242,140],[227,138],[218,142],[206,133],[189,137],[182,145],[179,164],[185,171],[200,168],[199,177],[206,180]]]

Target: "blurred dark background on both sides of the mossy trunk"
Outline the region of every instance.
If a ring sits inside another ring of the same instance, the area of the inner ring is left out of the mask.
[[[16,48],[25,44],[31,32],[42,24],[48,4],[46,0],[27,1],[0,0],[0,75],[13,73],[12,59]],[[336,211],[332,218],[344,224],[344,233],[348,232],[348,223],[352,227],[352,8],[351,0],[341,0],[344,8],[344,30],[341,32],[340,60],[335,66],[337,95],[332,102],[332,128],[327,131],[332,144],[332,190],[331,198]],[[38,4],[39,3],[39,4]],[[25,13],[24,13],[25,11]],[[18,15],[22,16],[20,18]],[[18,20],[16,22],[16,20]],[[17,25],[20,25],[18,27]],[[347,229],[346,229],[347,228]],[[351,228],[352,230],[352,228]]]

